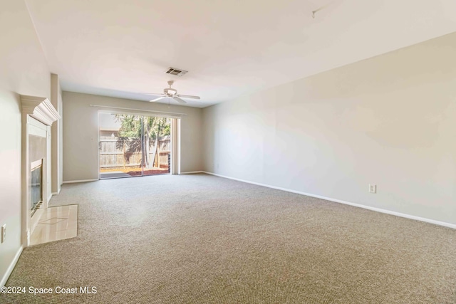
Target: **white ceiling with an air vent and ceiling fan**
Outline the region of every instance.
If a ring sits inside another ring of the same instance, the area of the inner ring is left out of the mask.
[[[175,80],[199,108],[456,31],[454,0],[26,4],[63,90],[149,100]]]

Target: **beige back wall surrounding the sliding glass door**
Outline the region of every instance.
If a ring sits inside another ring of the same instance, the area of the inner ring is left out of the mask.
[[[63,182],[98,179],[98,110],[90,105],[179,112],[181,172],[202,169],[202,109],[63,92]]]

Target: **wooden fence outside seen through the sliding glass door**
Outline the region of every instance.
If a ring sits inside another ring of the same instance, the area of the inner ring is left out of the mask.
[[[117,147],[118,137],[100,137],[100,169],[127,169],[140,168],[142,163],[142,152],[128,152],[127,145]],[[139,138],[128,138],[129,145],[138,145],[140,147],[141,140]],[[153,166],[163,169],[168,168],[168,154],[171,153],[170,140],[159,140],[157,145],[157,153],[153,159]],[[149,149],[149,157],[153,157],[153,143]],[[151,159],[152,161],[152,159]]]

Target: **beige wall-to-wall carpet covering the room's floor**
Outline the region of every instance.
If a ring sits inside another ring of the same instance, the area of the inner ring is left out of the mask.
[[[205,174],[64,185],[78,237],[26,248],[0,303],[456,303],[456,231]],[[79,289],[78,289],[79,291]]]

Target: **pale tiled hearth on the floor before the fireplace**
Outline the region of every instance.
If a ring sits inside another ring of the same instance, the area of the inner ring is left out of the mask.
[[[78,205],[44,209],[30,238],[30,245],[71,239],[78,235]]]

